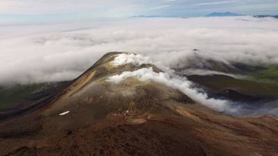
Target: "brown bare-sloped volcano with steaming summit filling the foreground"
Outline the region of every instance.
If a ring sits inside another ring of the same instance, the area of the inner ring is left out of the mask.
[[[55,92],[1,112],[0,154],[277,155],[274,116],[211,110],[163,78],[172,76],[136,54],[107,53]]]

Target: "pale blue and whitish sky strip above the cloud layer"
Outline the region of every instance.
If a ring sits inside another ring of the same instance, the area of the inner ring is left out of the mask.
[[[278,0],[1,0],[0,19],[82,19],[161,15],[197,17],[211,12],[277,15]]]

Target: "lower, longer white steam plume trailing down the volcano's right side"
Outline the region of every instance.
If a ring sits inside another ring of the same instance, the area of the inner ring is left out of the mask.
[[[124,71],[120,75],[111,76],[107,81],[111,83],[121,83],[122,80],[129,77],[135,77],[141,81],[152,80],[156,83],[161,83],[174,89],[179,89],[181,92],[183,92],[183,94],[186,94],[194,101],[197,101],[202,105],[206,105],[213,110],[227,113],[235,113],[237,111],[237,108],[231,107],[228,101],[208,98],[206,94],[198,92],[197,89],[193,89],[191,87],[190,81],[186,80],[185,78],[172,78],[167,73],[156,73],[152,68],[142,68],[136,71]]]

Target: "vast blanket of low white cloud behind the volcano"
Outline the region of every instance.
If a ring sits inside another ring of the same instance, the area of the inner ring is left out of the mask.
[[[108,51],[148,55],[171,68],[186,68],[196,53],[222,62],[278,63],[277,19],[130,18],[61,26],[51,26],[55,33],[36,27],[35,35],[22,33],[26,26],[3,26],[0,85],[71,80]]]

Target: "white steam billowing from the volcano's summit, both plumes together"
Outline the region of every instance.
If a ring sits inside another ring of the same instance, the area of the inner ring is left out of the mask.
[[[114,67],[119,67],[125,64],[133,64],[135,66],[140,66],[142,64],[160,64],[157,62],[152,62],[149,60],[149,57],[142,55],[134,55],[133,53],[123,53],[117,55],[116,58],[111,62]],[[129,77],[138,78],[140,81],[152,80],[156,83],[162,83],[168,87],[172,87],[174,89],[179,89],[183,94],[186,94],[194,101],[201,103],[202,105],[206,105],[213,110],[217,110],[220,112],[227,113],[235,113],[238,110],[238,107],[231,107],[229,101],[224,101],[215,98],[208,98],[207,94],[203,92],[199,92],[199,89],[194,89],[192,83],[187,80],[187,78],[174,75],[170,71],[167,73],[167,68],[163,67],[162,69],[166,69],[166,71],[156,73],[153,71],[152,67],[142,68],[136,71],[124,71],[120,75],[111,76],[106,81],[111,83],[121,83],[123,80]]]

